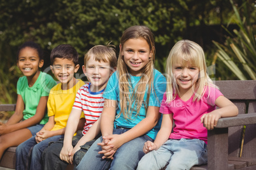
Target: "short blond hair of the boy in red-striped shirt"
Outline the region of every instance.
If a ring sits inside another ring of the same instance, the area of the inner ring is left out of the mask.
[[[108,43],[106,46],[97,45],[90,48],[83,58],[85,66],[90,57],[94,57],[96,62],[110,62],[111,69],[117,67],[117,55],[115,53],[115,46],[111,45],[110,43]]]

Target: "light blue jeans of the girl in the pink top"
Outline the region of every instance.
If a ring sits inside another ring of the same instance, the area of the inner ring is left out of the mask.
[[[148,152],[138,164],[141,169],[190,169],[207,163],[206,143],[203,140],[167,140],[158,150]]]

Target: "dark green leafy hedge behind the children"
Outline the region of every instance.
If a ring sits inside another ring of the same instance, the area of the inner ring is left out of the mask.
[[[234,0],[236,6],[244,2],[254,3]],[[146,25],[155,35],[155,67],[164,72],[167,55],[180,39],[200,44],[210,66],[217,50],[212,41],[225,42],[227,32],[222,25],[232,14],[229,0],[1,0],[0,103],[15,103],[16,83],[21,76],[15,56],[25,41],[38,42],[45,49],[43,70],[50,65],[50,51],[59,44],[75,46],[82,65],[83,55],[92,46],[111,41],[119,51],[119,39],[127,27]],[[254,8],[252,23],[255,16]],[[239,29],[232,23],[227,27],[234,28]],[[238,79],[219,61],[216,79]]]

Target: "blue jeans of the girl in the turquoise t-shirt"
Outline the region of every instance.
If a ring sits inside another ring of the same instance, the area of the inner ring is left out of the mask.
[[[129,129],[113,129],[113,134],[122,134]],[[114,159],[101,159],[103,154],[98,154],[101,151],[101,147],[97,145],[103,141],[102,136],[98,138],[92,147],[88,150],[87,154],[83,157],[80,164],[76,169],[136,169],[137,164],[141,157],[143,157],[143,145],[145,141],[152,141],[152,138],[147,135],[135,138],[127,143],[124,143],[120,148],[117,149]]]

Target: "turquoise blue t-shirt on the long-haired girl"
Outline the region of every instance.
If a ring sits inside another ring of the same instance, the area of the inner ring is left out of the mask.
[[[131,85],[134,89],[136,87],[136,84],[138,84],[141,77],[131,76]],[[118,81],[118,75],[117,72],[113,73],[108,80],[108,85],[106,86],[106,89],[103,93],[103,98],[107,98],[110,100],[116,100],[118,101],[118,108],[117,108],[117,114],[120,113],[120,91],[119,91],[119,81]],[[154,107],[160,107],[160,103],[162,101],[164,92],[166,91],[166,78],[164,75],[162,75],[158,70],[154,70],[154,79],[153,79],[153,88],[155,91],[151,91],[150,93],[150,100],[148,103],[148,106],[154,106]],[[131,92],[132,93],[132,92]],[[146,102],[146,93],[144,96],[144,101]],[[132,103],[132,108],[134,108],[134,103]],[[132,111],[133,110],[133,111]],[[146,110],[143,106],[141,106],[141,109],[139,110],[139,115],[135,116],[137,114],[136,109],[131,109],[132,117],[130,119],[125,120],[124,115],[121,114],[120,117],[116,117],[114,122],[114,127],[120,126],[123,128],[133,128],[138,124],[141,120],[143,120],[146,117]],[[146,133],[150,138],[155,139],[157,136],[157,133],[160,129],[160,125],[162,122],[162,117],[157,122],[157,125],[148,131]]]

